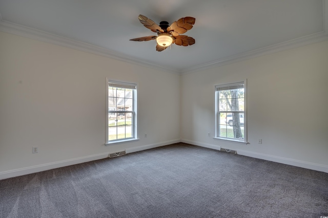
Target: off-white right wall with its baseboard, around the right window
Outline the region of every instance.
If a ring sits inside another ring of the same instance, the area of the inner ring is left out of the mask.
[[[214,136],[215,84],[244,79],[250,144],[208,137]],[[182,75],[181,139],[328,172],[327,81],[328,41]]]

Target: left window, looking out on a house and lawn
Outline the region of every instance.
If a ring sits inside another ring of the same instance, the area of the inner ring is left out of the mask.
[[[107,144],[136,139],[136,84],[108,80]]]

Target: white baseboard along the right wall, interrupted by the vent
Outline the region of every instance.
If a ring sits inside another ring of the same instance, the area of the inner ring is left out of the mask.
[[[195,141],[187,140],[187,139],[181,139],[181,142],[189,143],[192,145],[198,145],[201,147],[212,148],[212,149],[216,149],[216,150],[219,150],[219,147],[220,147],[218,145],[204,144],[204,143],[195,142]],[[273,161],[273,162],[277,162],[277,163],[282,163],[282,164],[287,164],[287,165],[302,167],[305,169],[312,169],[312,170],[317,170],[317,171],[328,173],[328,166],[326,166],[326,165],[299,161],[299,160],[294,160],[294,159],[289,159],[289,158],[282,158],[282,157],[277,157],[277,156],[272,156],[272,155],[265,155],[265,154],[260,154],[257,152],[252,152],[252,151],[247,151],[247,150],[239,150],[239,149],[237,149],[237,154],[251,157],[251,158]]]

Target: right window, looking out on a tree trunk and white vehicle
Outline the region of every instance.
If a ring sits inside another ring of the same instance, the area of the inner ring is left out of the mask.
[[[215,137],[247,143],[246,81],[215,86]]]

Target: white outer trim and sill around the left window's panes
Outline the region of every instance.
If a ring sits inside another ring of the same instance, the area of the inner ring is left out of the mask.
[[[108,140],[108,85],[109,83],[115,83],[115,84],[121,84],[121,85],[135,85],[135,90],[136,90],[136,94],[134,94],[133,96],[133,104],[134,104],[134,125],[133,125],[133,132],[134,132],[134,138],[128,138],[128,139],[119,139],[119,140],[115,140],[115,141],[109,141]],[[126,143],[126,142],[133,142],[133,141],[138,141],[139,140],[139,137],[138,137],[138,132],[137,132],[137,111],[138,111],[138,98],[137,98],[137,95],[138,95],[138,92],[137,92],[137,89],[138,89],[138,84],[136,82],[124,82],[124,81],[119,81],[119,80],[113,80],[113,79],[109,79],[109,78],[106,78],[106,138],[105,138],[105,145],[108,146],[108,145],[114,145],[114,144],[120,144],[120,143]]]

